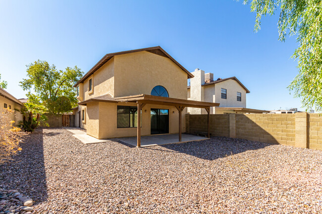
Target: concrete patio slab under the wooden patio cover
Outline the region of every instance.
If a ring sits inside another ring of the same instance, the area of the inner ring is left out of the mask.
[[[171,144],[171,143],[185,143],[190,141],[207,140],[209,138],[190,135],[190,134],[182,134],[181,139],[182,141],[179,141],[178,134],[159,134],[159,135],[141,136],[141,147],[165,145],[165,144]],[[136,137],[119,137],[119,138],[111,138],[108,140],[122,141],[132,146],[137,145]]]

